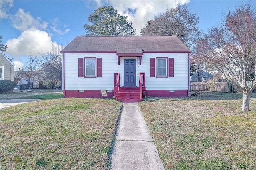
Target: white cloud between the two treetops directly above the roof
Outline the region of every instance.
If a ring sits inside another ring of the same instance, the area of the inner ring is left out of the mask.
[[[167,8],[173,8],[176,4],[185,4],[190,0],[111,0],[105,3],[110,4],[118,13],[128,16],[128,22],[132,21],[136,35],[146,26],[147,21],[153,20],[155,16],[166,12]],[[128,10],[129,9],[129,10]],[[129,12],[130,11],[130,12]]]

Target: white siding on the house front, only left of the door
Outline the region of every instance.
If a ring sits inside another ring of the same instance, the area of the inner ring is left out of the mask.
[[[102,58],[102,77],[78,77],[78,58]],[[114,73],[120,72],[116,54],[65,53],[65,90],[113,90]]]

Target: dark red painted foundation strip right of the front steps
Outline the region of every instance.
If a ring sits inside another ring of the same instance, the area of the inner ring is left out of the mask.
[[[148,97],[188,97],[188,90],[175,90],[170,92],[170,90],[146,90],[146,96]]]

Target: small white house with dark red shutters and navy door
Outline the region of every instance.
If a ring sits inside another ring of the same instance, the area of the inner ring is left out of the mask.
[[[190,50],[172,36],[77,36],[62,51],[64,97],[187,97]]]

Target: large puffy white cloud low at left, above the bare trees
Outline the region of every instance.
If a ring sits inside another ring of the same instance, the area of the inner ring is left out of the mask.
[[[51,37],[45,31],[30,28],[21,33],[18,38],[6,42],[8,49],[6,53],[12,57],[28,56],[29,54],[44,54],[52,49]]]

